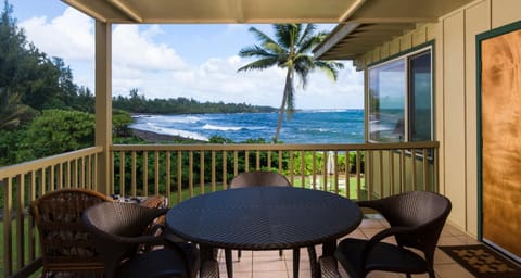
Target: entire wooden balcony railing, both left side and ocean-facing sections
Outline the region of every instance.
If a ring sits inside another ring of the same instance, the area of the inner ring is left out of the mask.
[[[407,190],[436,191],[437,148],[437,142],[112,146],[109,191],[167,195],[175,205],[224,190],[238,173],[258,169],[277,170],[294,187],[354,200]],[[4,277],[27,277],[41,267],[36,228],[26,213],[28,203],[59,188],[98,190],[97,159],[102,151],[89,148],[0,168]]]

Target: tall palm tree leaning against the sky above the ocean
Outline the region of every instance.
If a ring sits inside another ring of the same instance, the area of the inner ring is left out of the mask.
[[[242,66],[238,72],[266,70],[271,66],[287,68],[282,104],[274,138],[277,142],[284,112],[287,112],[287,118],[290,119],[294,111],[294,75],[300,77],[302,88],[305,89],[307,77],[315,68],[323,71],[331,79],[336,80],[339,70],[344,68],[344,65],[333,61],[317,60],[313,56],[312,50],[328,35],[325,31],[315,33],[314,24],[274,24],[272,27],[276,39],[255,27],[250,27],[250,31],[255,35],[259,45],[241,49],[239,55],[259,59]]]

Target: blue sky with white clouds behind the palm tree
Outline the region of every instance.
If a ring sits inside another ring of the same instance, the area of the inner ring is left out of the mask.
[[[71,66],[74,80],[94,92],[94,21],[59,0],[9,0],[27,39]],[[252,62],[238,55],[256,43],[247,29],[271,35],[270,25],[113,25],[113,96],[134,88],[148,99],[190,98],[200,102],[247,103],[279,108],[285,72],[237,70]],[[318,25],[331,30],[334,25]],[[296,109],[363,109],[364,78],[351,61],[336,81],[317,71],[306,89],[295,83]]]

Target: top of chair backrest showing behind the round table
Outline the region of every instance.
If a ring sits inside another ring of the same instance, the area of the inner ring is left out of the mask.
[[[259,187],[259,186],[278,186],[289,187],[290,181],[277,172],[243,172],[233,177],[230,182],[230,188],[241,187]]]

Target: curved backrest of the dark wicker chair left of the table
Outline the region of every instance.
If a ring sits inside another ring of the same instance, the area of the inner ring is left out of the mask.
[[[84,224],[100,251],[106,277],[116,277],[119,264],[136,255],[147,227],[167,208],[145,207],[131,203],[100,203],[86,210]]]

